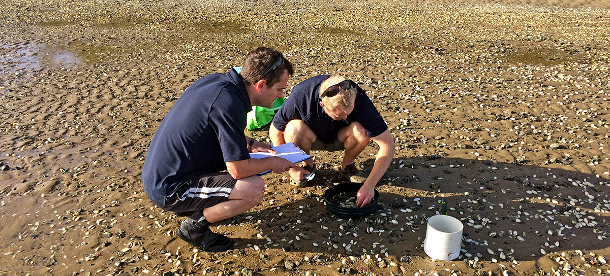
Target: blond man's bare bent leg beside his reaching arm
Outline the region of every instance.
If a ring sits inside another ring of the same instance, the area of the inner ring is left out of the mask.
[[[345,166],[354,163],[356,157],[367,147],[369,140],[367,131],[358,122],[352,122],[350,126],[339,130],[339,141],[342,141],[343,147],[345,147],[341,169],[345,169]]]

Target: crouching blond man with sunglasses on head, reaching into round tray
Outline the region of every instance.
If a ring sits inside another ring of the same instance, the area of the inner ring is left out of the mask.
[[[375,196],[375,185],[386,173],[395,145],[375,105],[362,88],[342,76],[315,76],[296,85],[273,118],[269,134],[275,145],[295,143],[307,154],[310,150],[345,149],[339,174],[351,182],[364,183],[358,191],[358,207],[368,205]],[[379,152],[370,175],[364,174],[354,160],[372,139]],[[316,171],[314,161],[290,169],[290,184],[306,185],[303,173]]]

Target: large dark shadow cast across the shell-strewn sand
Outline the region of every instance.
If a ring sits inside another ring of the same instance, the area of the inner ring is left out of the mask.
[[[365,169],[372,161],[363,163]],[[397,158],[376,188],[381,199],[375,213],[345,219],[329,213],[321,196],[334,174],[318,171],[317,187],[298,192],[303,199],[232,219],[259,220],[265,237],[235,238],[236,248],[428,258],[421,247],[426,220],[438,214],[442,197],[448,214],[464,224],[459,260],[527,261],[607,246],[610,188],[594,175],[493,161]]]

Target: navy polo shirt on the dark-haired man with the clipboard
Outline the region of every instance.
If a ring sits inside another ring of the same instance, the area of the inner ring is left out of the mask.
[[[152,136],[142,169],[144,192],[165,205],[186,180],[250,158],[243,130],[252,109],[239,74],[211,74],[182,93]]]

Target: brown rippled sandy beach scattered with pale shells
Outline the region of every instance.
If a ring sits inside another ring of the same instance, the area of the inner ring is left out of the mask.
[[[0,22],[0,275],[610,274],[609,0],[10,0]],[[311,185],[265,175],[213,224],[234,249],[198,252],[143,193],[146,150],[185,88],[258,46],[289,88],[365,88],[396,155],[373,214],[326,210],[342,152],[314,152]],[[422,247],[441,198],[453,261]]]

